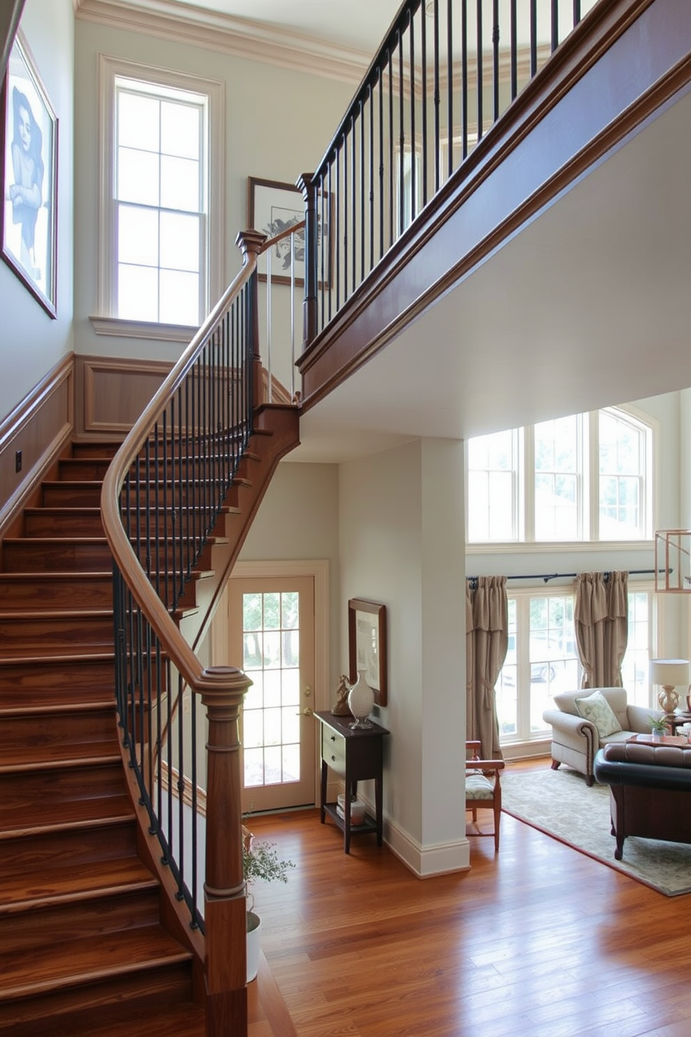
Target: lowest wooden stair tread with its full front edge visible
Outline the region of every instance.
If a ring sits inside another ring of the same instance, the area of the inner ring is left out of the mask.
[[[32,947],[25,954],[0,954],[0,1004],[110,976],[124,976],[192,955],[159,925],[99,933],[59,945]]]

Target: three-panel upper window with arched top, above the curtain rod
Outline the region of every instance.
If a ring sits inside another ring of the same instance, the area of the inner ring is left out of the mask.
[[[467,443],[467,540],[653,536],[653,428],[614,408]]]

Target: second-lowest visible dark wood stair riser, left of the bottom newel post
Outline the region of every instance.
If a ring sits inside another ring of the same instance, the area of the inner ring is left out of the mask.
[[[79,876],[75,875],[76,889],[78,885]],[[117,895],[108,893],[93,900],[68,901],[17,914],[0,913],[0,947],[3,954],[30,953],[34,947],[155,926],[159,900],[160,893],[154,888]]]

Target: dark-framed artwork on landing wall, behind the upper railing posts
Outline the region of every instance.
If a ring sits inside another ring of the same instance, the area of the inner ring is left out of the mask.
[[[262,180],[256,176],[248,178],[248,227],[261,230],[267,237],[276,237],[281,231],[301,223],[305,219],[303,192],[292,184],[280,180]],[[321,226],[317,215],[318,233],[327,232]],[[295,286],[305,286],[305,228],[295,233]],[[326,244],[329,242],[327,240]],[[330,249],[328,268],[330,272]],[[326,276],[328,282],[329,274]],[[266,280],[266,258],[259,257],[259,280]],[[271,252],[271,283],[290,284],[290,235],[277,242]],[[322,284],[320,282],[320,287]],[[328,288],[328,283],[323,285]]]

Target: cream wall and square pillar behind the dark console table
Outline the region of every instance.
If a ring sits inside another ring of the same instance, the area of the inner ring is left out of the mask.
[[[463,446],[416,441],[342,465],[339,481],[344,665],[347,599],[387,609],[386,839],[419,874],[463,868]]]

